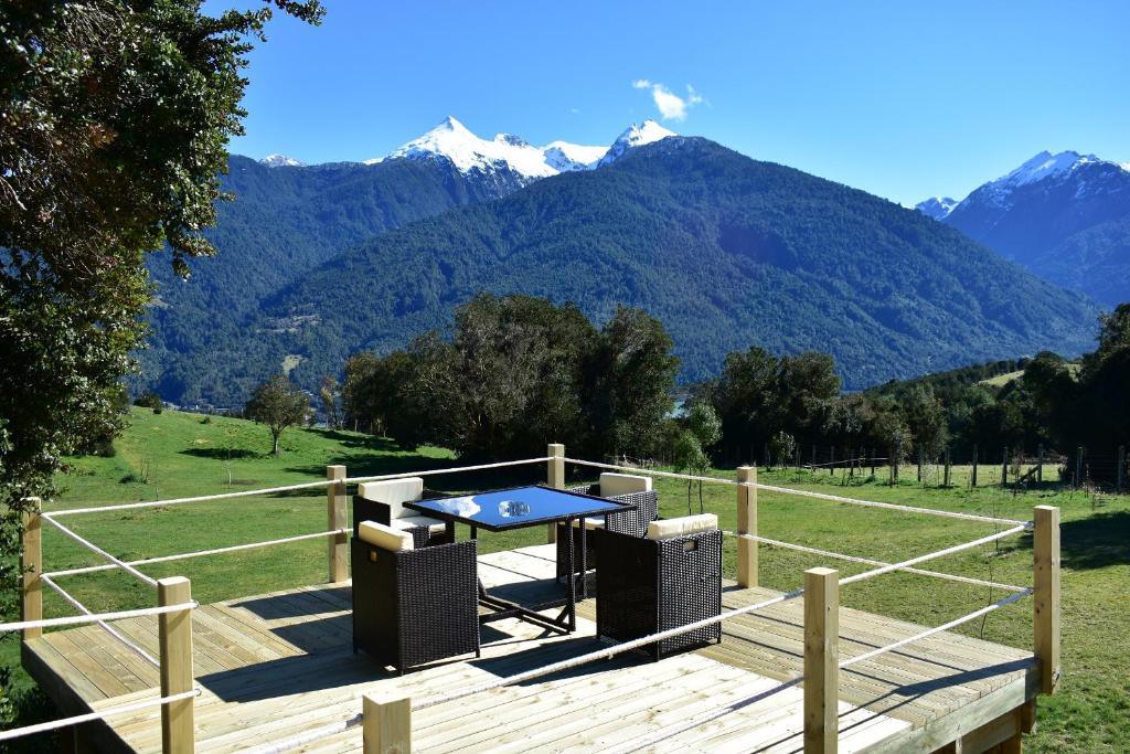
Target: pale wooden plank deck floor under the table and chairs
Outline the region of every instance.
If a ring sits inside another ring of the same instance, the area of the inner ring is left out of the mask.
[[[480,577],[511,598],[551,588],[551,546],[484,555]],[[725,607],[773,596],[729,586]],[[414,699],[542,666],[600,645],[594,603],[579,608],[579,631],[547,636],[518,621],[483,630],[483,657],[397,677],[350,651],[350,590],[322,586],[201,606],[193,661],[197,751],[236,752],[360,711],[360,694],[407,690]],[[150,653],[156,618],[115,624]],[[841,609],[841,657],[922,630]],[[801,740],[802,605],[790,600],[727,621],[723,642],[660,662],[621,656],[566,674],[507,686],[412,716],[421,752],[657,751],[797,752]],[[24,665],[64,713],[156,696],[157,669],[96,626],[45,634],[24,645]],[[1022,725],[1038,688],[1031,652],[938,634],[841,673],[841,751],[929,752],[965,738],[983,751]],[[1015,714],[1014,718],[1009,716]],[[1003,720],[1003,722],[1001,722]],[[1014,720],[1011,723],[1009,720]],[[1010,735],[1010,734],[1009,734]],[[99,751],[158,752],[157,709],[89,723]],[[359,752],[355,728],[308,752]]]

